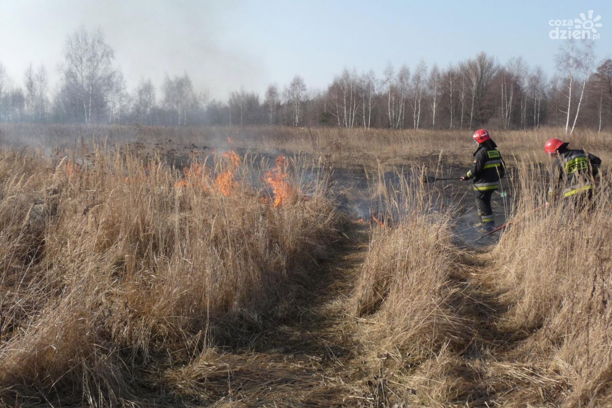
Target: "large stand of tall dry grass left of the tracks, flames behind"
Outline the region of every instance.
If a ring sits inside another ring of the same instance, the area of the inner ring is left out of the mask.
[[[6,403],[119,404],[142,393],[133,379],[147,365],[170,364],[188,345],[206,350],[241,320],[285,313],[341,217],[316,172],[301,186],[308,201],[274,206],[248,183],[257,170],[229,161],[218,168],[245,179],[225,189],[197,163],[177,186],[159,157],[119,150],[97,150],[83,166],[2,152]]]

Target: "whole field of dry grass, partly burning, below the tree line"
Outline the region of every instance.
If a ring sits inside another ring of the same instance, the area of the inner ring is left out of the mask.
[[[474,244],[471,133],[1,125],[0,403],[610,406],[612,135],[576,213],[493,130]]]

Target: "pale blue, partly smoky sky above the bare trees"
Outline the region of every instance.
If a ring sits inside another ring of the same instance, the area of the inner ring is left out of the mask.
[[[262,93],[301,75],[323,89],[343,68],[421,59],[446,67],[486,51],[499,62],[523,56],[554,71],[561,40],[551,19],[601,15],[597,59],[612,56],[611,1],[86,1],[0,0],[0,62],[15,83],[33,62],[53,82],[65,37],[80,24],[101,27],[129,82],[159,85],[165,73],[187,72],[212,97],[240,89]]]

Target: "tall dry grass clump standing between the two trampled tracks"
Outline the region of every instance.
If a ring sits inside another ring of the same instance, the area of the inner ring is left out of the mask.
[[[435,210],[434,191],[405,178],[384,185],[382,197],[378,217],[385,222],[371,231],[354,308],[365,317],[372,349],[415,364],[464,335],[464,322],[448,304],[459,253],[452,212]]]

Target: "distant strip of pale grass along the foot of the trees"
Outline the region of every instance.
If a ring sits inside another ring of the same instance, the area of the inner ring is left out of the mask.
[[[547,139],[568,139],[573,146],[580,146],[607,157],[612,152],[610,132],[598,133],[588,128],[565,136],[562,128],[543,127],[526,130],[496,130],[497,141],[507,160],[515,154],[534,154],[545,159],[543,146]],[[370,164],[376,159],[392,164],[406,160],[427,161],[442,150],[446,158],[468,164],[473,152],[471,135],[474,130],[389,130],[364,128],[293,128],[293,127],[146,127],[133,126],[81,126],[81,125],[33,125],[0,124],[0,142],[12,141],[21,146],[40,146],[51,150],[80,149],[83,144],[97,139],[100,143],[127,141],[133,149],[139,146],[159,144],[164,149],[176,149],[195,144],[204,147],[239,147],[263,152],[304,152],[316,157],[324,155],[343,166]],[[206,149],[204,149],[206,151]],[[467,157],[467,158],[466,158]],[[365,162],[365,163],[364,163]]]

